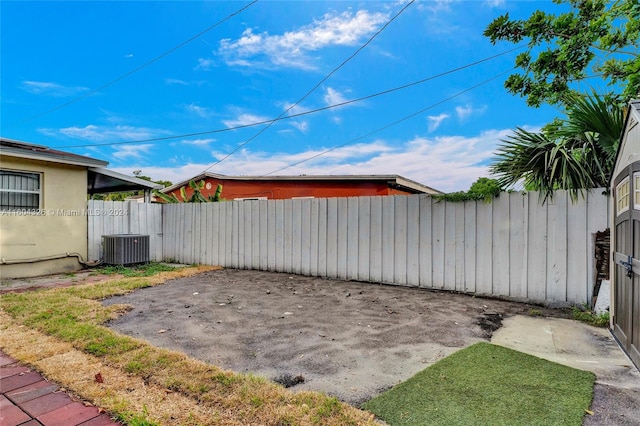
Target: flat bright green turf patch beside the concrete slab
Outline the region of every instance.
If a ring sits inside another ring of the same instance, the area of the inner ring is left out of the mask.
[[[576,425],[595,376],[489,343],[448,356],[363,404],[397,425]]]

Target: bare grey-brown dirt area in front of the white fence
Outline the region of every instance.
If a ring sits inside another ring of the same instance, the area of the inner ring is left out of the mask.
[[[133,307],[109,323],[122,333],[356,406],[489,340],[506,316],[567,316],[450,292],[232,269],[104,304]]]

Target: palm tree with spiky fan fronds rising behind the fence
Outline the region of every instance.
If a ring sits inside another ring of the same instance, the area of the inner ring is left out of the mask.
[[[567,118],[542,132],[517,128],[502,140],[490,167],[503,188],[522,183],[543,202],[557,189],[576,200],[582,191],[607,186],[624,126],[624,109],[596,93],[576,98]]]

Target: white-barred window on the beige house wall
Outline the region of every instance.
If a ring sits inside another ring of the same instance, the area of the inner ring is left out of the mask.
[[[38,210],[40,173],[0,170],[0,210]]]

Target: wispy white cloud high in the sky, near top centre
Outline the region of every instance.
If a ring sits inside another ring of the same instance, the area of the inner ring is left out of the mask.
[[[329,46],[356,45],[387,19],[387,14],[359,10],[355,14],[328,13],[312,24],[282,35],[256,34],[247,28],[237,40],[223,39],[218,53],[230,65],[315,69],[309,53]]]

